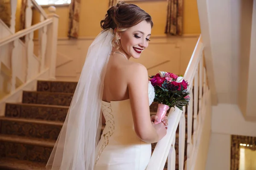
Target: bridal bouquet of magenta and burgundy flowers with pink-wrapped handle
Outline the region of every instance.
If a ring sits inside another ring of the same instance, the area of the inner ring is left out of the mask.
[[[151,76],[149,81],[154,87],[154,102],[158,102],[157,116],[160,120],[166,115],[169,108],[177,107],[183,110],[183,106],[189,103],[188,82],[183,77],[175,74],[159,71]],[[155,122],[157,124],[158,122]]]

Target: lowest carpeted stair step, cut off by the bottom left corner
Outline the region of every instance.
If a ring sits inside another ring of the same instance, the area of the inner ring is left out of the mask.
[[[46,163],[18,159],[0,159],[0,170],[45,170]]]

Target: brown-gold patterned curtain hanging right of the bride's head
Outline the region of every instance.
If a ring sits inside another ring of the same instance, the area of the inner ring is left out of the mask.
[[[183,0],[167,0],[166,34],[182,35]]]

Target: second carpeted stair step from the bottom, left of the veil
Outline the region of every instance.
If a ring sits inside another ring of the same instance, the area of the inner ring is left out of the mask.
[[[54,144],[55,141],[53,140],[35,139],[15,135],[1,135],[0,161],[3,159],[18,159],[46,163]]]

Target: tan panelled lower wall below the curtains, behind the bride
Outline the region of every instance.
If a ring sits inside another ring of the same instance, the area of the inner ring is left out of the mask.
[[[147,50],[139,59],[133,59],[148,69],[153,75],[159,69],[176,74],[184,74],[199,34],[185,36],[158,35],[151,38]],[[77,81],[84,65],[87,50],[95,37],[58,38],[56,79],[60,81]],[[35,40],[37,51],[39,41]]]

